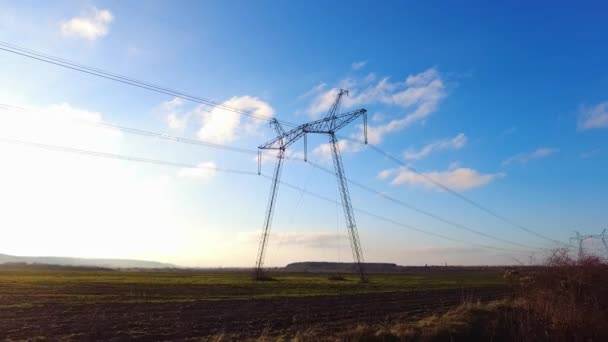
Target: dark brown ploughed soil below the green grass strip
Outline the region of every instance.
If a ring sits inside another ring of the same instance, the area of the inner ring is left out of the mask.
[[[237,340],[311,329],[335,332],[360,323],[419,318],[463,301],[498,299],[507,293],[505,288],[486,287],[159,303],[70,303],[63,299],[32,305],[15,305],[16,298],[4,297],[0,303],[12,305],[0,305],[0,340],[184,340],[220,334]]]

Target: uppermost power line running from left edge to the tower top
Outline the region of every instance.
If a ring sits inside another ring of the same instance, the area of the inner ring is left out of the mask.
[[[268,121],[270,122],[271,118],[268,117],[263,117],[263,116],[259,116],[256,115],[254,113],[251,113],[249,111],[245,111],[242,109],[238,109],[232,106],[228,106],[225,104],[222,104],[220,102],[217,101],[213,101],[210,99],[206,99],[203,97],[199,97],[199,96],[195,96],[195,95],[190,95],[187,94],[185,92],[182,91],[178,91],[178,90],[173,90],[170,88],[166,88],[166,87],[162,87],[162,86],[158,86],[152,83],[148,83],[148,82],[144,82],[144,81],[140,81],[137,80],[135,78],[130,78],[127,76],[122,76],[116,73],[112,73],[112,72],[108,72],[108,71],[104,71],[101,69],[97,69],[97,68],[93,68],[93,67],[89,67],[83,64],[79,64],[79,63],[75,63],[75,62],[71,62],[68,61],[66,59],[62,59],[59,57],[54,57],[48,54],[44,54],[42,52],[38,52],[38,51],[34,51],[34,50],[30,50],[30,49],[26,49],[26,48],[22,48],[19,47],[17,45],[13,45],[13,44],[9,44],[6,42],[2,42],[0,41],[0,50],[6,51],[6,52],[10,52],[16,55],[20,55],[23,57],[27,57],[30,59],[34,59],[37,61],[41,61],[41,62],[45,62],[45,63],[49,63],[49,64],[53,64],[56,66],[60,66],[60,67],[64,67],[67,69],[71,69],[71,70],[75,70],[75,71],[79,71],[82,73],[86,73],[89,75],[93,75],[93,76],[98,76],[101,78],[105,78],[108,80],[112,80],[112,81],[116,81],[116,82],[120,82],[120,83],[124,83],[124,84],[128,84],[128,85],[132,85],[135,87],[139,87],[142,89],[147,89],[147,90],[151,90],[157,93],[161,93],[161,94],[165,94],[165,95],[170,95],[170,96],[174,96],[177,98],[181,98],[184,100],[188,100],[188,101],[192,101],[192,102],[197,102],[200,104],[204,104],[207,106],[211,106],[211,107],[215,107],[215,108],[219,108],[219,109],[223,109],[226,111],[230,111],[230,112],[234,112],[234,113],[238,113],[241,115],[245,115],[254,119],[258,119],[258,120],[264,120],[264,121]],[[296,127],[297,125],[287,122],[287,121],[280,121],[283,125],[285,126],[290,126],[290,127]]]

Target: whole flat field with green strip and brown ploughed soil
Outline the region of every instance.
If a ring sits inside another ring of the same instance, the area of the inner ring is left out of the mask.
[[[485,279],[485,283],[484,280]],[[0,340],[184,340],[339,331],[506,296],[492,272],[322,275],[0,270]]]

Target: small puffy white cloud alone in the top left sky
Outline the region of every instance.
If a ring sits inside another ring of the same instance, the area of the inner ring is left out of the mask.
[[[109,10],[93,8],[90,15],[74,17],[61,23],[61,32],[67,37],[96,40],[108,34],[114,16]]]

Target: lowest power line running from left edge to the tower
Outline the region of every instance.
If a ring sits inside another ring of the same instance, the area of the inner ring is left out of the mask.
[[[158,165],[175,166],[175,167],[182,167],[182,168],[189,168],[189,169],[202,169],[202,170],[211,170],[211,171],[217,171],[217,172],[226,172],[226,173],[257,176],[257,172],[253,172],[253,171],[224,169],[224,168],[219,168],[219,167],[214,167],[214,166],[199,166],[199,165],[176,163],[176,162],[157,160],[157,159],[124,156],[124,155],[120,155],[120,154],[83,150],[83,149],[78,149],[78,148],[71,148],[71,147],[64,147],[64,146],[57,146],[57,145],[49,145],[49,144],[43,144],[43,143],[37,143],[37,142],[25,141],[25,140],[19,140],[19,139],[0,138],[0,142],[14,144],[14,145],[22,145],[22,146],[27,146],[27,147],[41,148],[41,149],[46,149],[46,150],[51,150],[51,151],[71,152],[71,153],[83,154],[83,155],[89,155],[89,156],[101,157],[101,158],[113,158],[113,159],[127,160],[127,161],[139,162],[139,163],[158,164]]]

